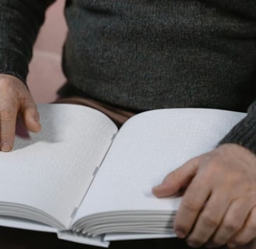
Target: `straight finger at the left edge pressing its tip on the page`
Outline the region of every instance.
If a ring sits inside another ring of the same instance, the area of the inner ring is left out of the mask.
[[[4,152],[10,151],[14,143],[17,112],[15,103],[6,103],[0,111],[0,148]]]

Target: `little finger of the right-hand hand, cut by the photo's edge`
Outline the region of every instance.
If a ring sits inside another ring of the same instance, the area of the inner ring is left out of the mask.
[[[242,209],[243,210],[243,209]],[[249,243],[256,237],[256,208],[252,209],[242,229],[230,238],[227,243],[230,248]]]

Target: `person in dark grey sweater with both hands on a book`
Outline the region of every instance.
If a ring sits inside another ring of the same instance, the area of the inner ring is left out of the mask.
[[[32,132],[41,128],[26,86],[27,65],[52,2],[0,2],[3,152],[12,149],[17,116]],[[185,189],[175,231],[187,247],[253,248],[255,1],[67,0],[65,15],[69,33],[62,65],[67,82],[59,89],[60,100],[85,100],[129,115],[166,107],[247,112],[215,149],[189,160],[152,191],[162,198]],[[161,247],[171,244],[165,240]]]

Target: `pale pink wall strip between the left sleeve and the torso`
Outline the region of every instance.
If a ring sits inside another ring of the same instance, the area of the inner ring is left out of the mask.
[[[63,16],[65,1],[57,0],[48,8],[44,25],[34,45],[27,84],[36,103],[48,103],[56,98],[56,90],[65,82],[62,74],[62,45],[67,27]]]

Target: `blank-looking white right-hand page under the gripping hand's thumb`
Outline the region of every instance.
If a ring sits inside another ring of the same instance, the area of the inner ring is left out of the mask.
[[[151,188],[194,156],[215,149],[245,114],[211,109],[151,110],[123,125],[73,219],[98,212],[171,211],[179,198]]]

